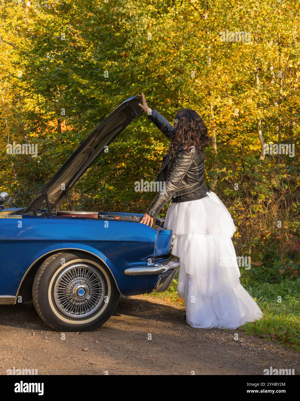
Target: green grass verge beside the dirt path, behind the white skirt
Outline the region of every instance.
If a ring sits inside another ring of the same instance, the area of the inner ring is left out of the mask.
[[[280,283],[270,284],[242,275],[241,284],[263,312],[262,319],[242,326],[245,333],[275,340],[300,351],[300,279],[286,278]],[[147,295],[177,302],[176,288],[177,277],[168,291]]]

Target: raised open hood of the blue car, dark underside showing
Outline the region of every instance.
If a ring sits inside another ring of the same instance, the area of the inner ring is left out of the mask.
[[[141,99],[140,95],[132,96],[110,113],[50,178],[23,213],[35,213],[45,207],[50,211],[53,208],[58,209],[68,199],[70,188],[103,152],[104,147],[142,114],[138,105]]]

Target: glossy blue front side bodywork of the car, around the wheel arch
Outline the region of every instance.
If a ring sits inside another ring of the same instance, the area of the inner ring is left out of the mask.
[[[61,249],[78,249],[97,256],[107,265],[123,295],[151,291],[152,283],[157,281],[157,277],[129,277],[124,273],[129,267],[147,265],[148,257],[153,255],[156,229],[131,221],[24,218],[10,212],[0,211],[0,296],[16,296],[28,268],[43,255]]]

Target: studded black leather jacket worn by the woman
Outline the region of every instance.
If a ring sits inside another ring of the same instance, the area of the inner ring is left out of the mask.
[[[152,110],[148,118],[170,140],[174,127],[158,111]],[[203,152],[186,152],[179,147],[174,156],[167,154],[162,159],[162,167],[156,181],[162,183],[162,190],[151,203],[147,214],[156,216],[167,202],[186,202],[207,196],[204,182]]]

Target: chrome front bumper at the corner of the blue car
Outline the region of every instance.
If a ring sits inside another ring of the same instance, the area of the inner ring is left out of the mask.
[[[179,265],[179,258],[172,256],[165,261],[155,263],[151,266],[129,267],[124,271],[124,273],[126,275],[159,274],[158,281],[152,291],[162,292],[168,290],[170,287]]]

